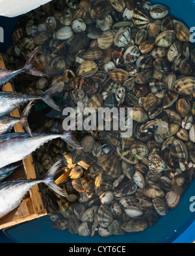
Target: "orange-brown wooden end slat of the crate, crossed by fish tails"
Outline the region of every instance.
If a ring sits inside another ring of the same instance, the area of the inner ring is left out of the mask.
[[[6,68],[1,53],[0,53],[0,68]],[[14,87],[12,86],[11,83],[6,83],[6,85],[3,86],[2,91],[12,92],[12,91],[14,91]],[[14,109],[14,111],[12,111],[12,113],[10,113],[10,115],[12,117],[20,117],[19,109]],[[15,132],[25,132],[23,130],[23,126],[20,122],[18,122],[18,124],[16,124],[14,126],[14,131]],[[24,165],[24,168],[25,168],[25,173],[26,173],[27,178],[28,179],[29,178],[36,178],[36,173],[35,173],[35,169],[34,169],[32,155],[23,160],[23,165]],[[31,188],[30,195],[31,195],[31,200],[32,200],[32,207],[34,209],[34,214],[35,214],[34,216],[46,215],[47,212],[44,208],[44,203],[42,201],[42,197],[41,197],[41,194],[39,192],[38,185],[33,186]],[[30,218],[30,217],[28,217],[28,218]]]

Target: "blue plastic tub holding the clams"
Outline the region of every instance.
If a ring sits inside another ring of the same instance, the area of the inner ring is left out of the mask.
[[[176,19],[184,21],[188,27],[195,27],[195,1],[193,0],[153,0],[152,3],[161,3],[170,8],[170,14]],[[4,51],[10,44],[10,35],[16,27],[16,18],[1,18],[0,26],[5,28],[5,43],[0,44],[0,51]],[[49,242],[49,243],[171,243],[193,242],[195,240],[195,205],[190,211],[191,197],[195,197],[195,180],[183,195],[179,206],[170,210],[168,214],[142,233],[123,236],[109,236],[102,238],[99,235],[85,238],[72,235],[68,231],[57,231],[51,227],[48,216],[23,223],[6,230],[6,234],[14,242]],[[3,240],[4,242],[4,240]]]

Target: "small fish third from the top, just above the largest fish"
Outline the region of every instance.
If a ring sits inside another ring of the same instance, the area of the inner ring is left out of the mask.
[[[15,124],[21,122],[23,128],[25,128],[26,132],[32,137],[31,128],[29,127],[29,123],[27,120],[29,111],[32,107],[32,102],[33,100],[31,100],[31,102],[29,102],[25,109],[23,109],[21,117],[10,117],[8,115],[0,117],[0,135],[7,134],[8,132],[10,132],[10,130],[12,130]]]

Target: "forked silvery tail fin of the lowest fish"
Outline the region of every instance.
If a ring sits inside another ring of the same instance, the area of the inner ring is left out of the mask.
[[[53,177],[55,175],[55,173],[57,172],[57,170],[60,167],[60,161],[56,162],[47,172],[47,175],[44,178],[44,183],[51,188],[51,190],[53,190],[54,192],[58,193],[59,195],[61,195],[62,197],[65,197],[65,193],[64,190],[62,190],[62,188],[60,188],[56,183],[55,180],[53,180]]]

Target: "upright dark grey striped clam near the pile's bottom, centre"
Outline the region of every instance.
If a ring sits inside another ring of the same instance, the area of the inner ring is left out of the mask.
[[[109,227],[110,223],[113,221],[111,209],[107,205],[99,206],[97,217],[101,227]]]

